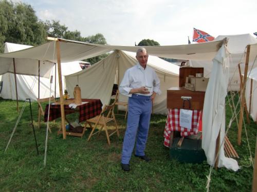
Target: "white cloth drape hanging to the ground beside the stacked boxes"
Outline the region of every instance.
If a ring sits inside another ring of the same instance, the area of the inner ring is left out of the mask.
[[[227,95],[228,73],[229,61],[227,60],[226,48],[223,46],[213,59],[213,69],[205,94],[202,148],[205,151],[207,162],[214,165],[216,139],[220,130],[218,167],[225,166],[236,171],[239,169],[238,164],[236,160],[225,157],[224,142],[222,142],[225,137],[225,97]]]

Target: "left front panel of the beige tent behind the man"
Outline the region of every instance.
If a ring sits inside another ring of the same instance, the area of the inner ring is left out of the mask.
[[[101,99],[103,105],[108,104],[112,95],[116,67],[116,54],[111,54],[86,70],[65,76],[70,98],[74,98],[74,88],[78,84],[82,98]]]

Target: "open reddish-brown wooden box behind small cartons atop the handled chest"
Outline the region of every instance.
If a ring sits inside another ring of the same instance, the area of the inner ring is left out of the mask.
[[[179,87],[185,87],[186,78],[189,75],[195,77],[196,73],[204,74],[204,68],[179,68]]]

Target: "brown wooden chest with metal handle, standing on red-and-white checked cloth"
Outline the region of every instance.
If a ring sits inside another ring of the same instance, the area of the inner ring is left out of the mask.
[[[189,108],[189,101],[185,101],[183,108],[183,99],[181,96],[192,97],[190,99],[191,108]],[[205,100],[205,92],[190,91],[185,88],[170,88],[167,90],[167,108],[168,109],[191,109],[203,110]]]

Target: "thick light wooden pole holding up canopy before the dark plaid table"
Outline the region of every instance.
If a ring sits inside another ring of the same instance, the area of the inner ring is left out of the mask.
[[[63,104],[63,86],[62,86],[62,68],[61,68],[61,53],[60,53],[60,42],[56,41],[56,51],[57,51],[57,64],[58,64],[58,77],[59,77],[59,90],[60,90],[60,105],[61,105],[61,116],[62,116],[62,132],[63,139],[66,139],[66,129],[65,129],[65,112]]]

